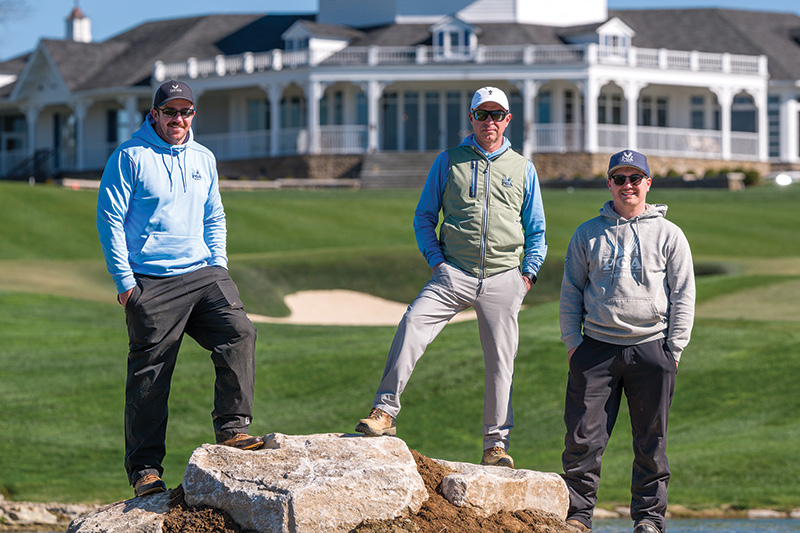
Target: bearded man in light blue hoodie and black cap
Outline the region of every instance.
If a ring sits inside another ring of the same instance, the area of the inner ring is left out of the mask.
[[[216,442],[263,446],[252,420],[256,330],[228,275],[214,154],[194,141],[195,100],[168,81],[131,140],[106,164],[97,229],[125,309],[125,469],[136,496],[166,490],[167,400],[184,333],[211,352]]]

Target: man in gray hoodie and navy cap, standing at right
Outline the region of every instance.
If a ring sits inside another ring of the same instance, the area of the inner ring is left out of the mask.
[[[561,339],[569,357],[562,455],[567,522],[591,531],[600,463],[624,391],[633,434],[634,533],[663,533],[667,419],[681,352],[694,321],[694,272],[683,232],[646,203],[647,158],[611,156],[612,200],[581,224],[567,249]]]

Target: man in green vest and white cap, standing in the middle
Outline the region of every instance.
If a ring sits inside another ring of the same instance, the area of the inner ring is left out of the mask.
[[[547,254],[544,209],[533,163],[503,136],[511,121],[505,93],[478,89],[469,121],[474,133],[442,152],[428,173],[414,232],[433,277],[403,316],[373,408],[356,431],[396,434],[400,395],[417,361],[456,313],[473,307],[486,366],[481,464],[513,468],[507,450],[517,315]]]

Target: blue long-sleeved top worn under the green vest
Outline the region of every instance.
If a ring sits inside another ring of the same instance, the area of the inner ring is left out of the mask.
[[[486,152],[476,142],[475,136],[470,135],[461,143],[480,150],[489,160],[498,157],[506,150],[511,149],[511,143],[503,138],[503,145],[494,152]],[[450,169],[450,160],[447,152],[442,152],[436,158],[425,181],[419,203],[414,212],[414,234],[417,246],[431,267],[445,260],[436,227],[439,224],[439,212],[442,209],[442,198]],[[542,194],[536,167],[528,161],[525,168],[525,196],[520,213],[521,224],[525,233],[525,244],[522,257],[522,272],[537,275],[539,268],[544,263],[547,255],[547,239],[545,236],[545,216],[542,204]]]

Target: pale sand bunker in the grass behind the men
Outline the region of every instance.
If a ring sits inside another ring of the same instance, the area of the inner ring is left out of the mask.
[[[396,326],[408,304],[384,300],[356,291],[300,291],[285,299],[288,317],[275,318],[248,313],[253,322],[307,326]],[[451,322],[474,320],[468,309]]]

